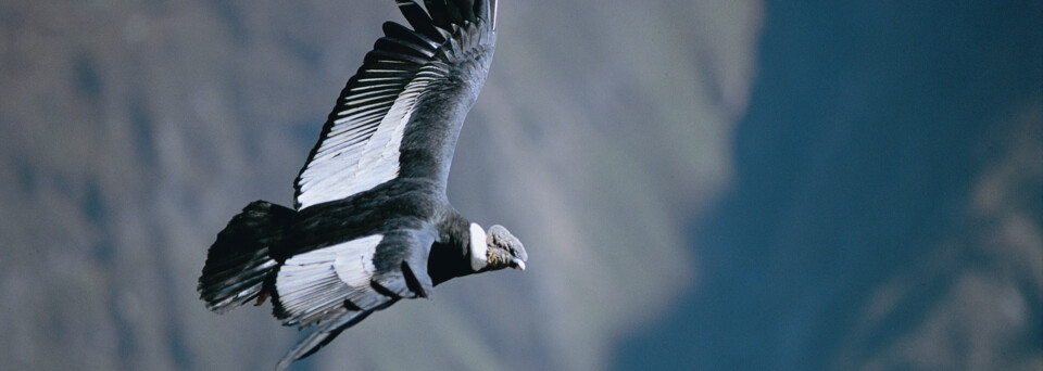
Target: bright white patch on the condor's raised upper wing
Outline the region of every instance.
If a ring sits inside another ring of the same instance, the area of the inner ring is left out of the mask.
[[[301,172],[300,194],[297,196],[299,208],[345,199],[394,179],[399,175],[399,149],[405,126],[427,87],[441,77],[439,71],[441,67],[437,64],[420,68],[375,128],[344,125],[349,127],[348,131],[359,132],[342,133],[337,130],[344,129],[335,127],[327,138],[337,135],[336,140],[324,141]],[[385,98],[380,92],[375,91],[373,98]],[[340,112],[341,118],[335,125],[376,119],[374,115],[380,114],[379,108],[380,104],[374,104]]]

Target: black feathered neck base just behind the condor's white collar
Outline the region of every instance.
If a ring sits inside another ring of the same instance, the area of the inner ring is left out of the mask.
[[[470,269],[470,222],[456,210],[451,210],[438,226],[438,241],[427,258],[427,273],[431,283],[474,273]]]

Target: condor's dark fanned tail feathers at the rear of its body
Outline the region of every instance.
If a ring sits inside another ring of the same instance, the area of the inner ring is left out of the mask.
[[[208,309],[223,314],[261,294],[265,278],[278,266],[268,247],[279,243],[296,213],[254,201],[231,218],[210,246],[199,278],[197,290]]]

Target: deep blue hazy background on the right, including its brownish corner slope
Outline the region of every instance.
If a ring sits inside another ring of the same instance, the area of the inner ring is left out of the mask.
[[[765,14],[700,284],[616,368],[1043,368],[1040,2]]]

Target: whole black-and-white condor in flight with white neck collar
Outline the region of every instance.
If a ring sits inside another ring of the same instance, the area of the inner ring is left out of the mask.
[[[497,0],[397,2],[410,27],[384,24],[297,177],[294,207],[247,205],[199,279],[210,310],[271,298],[284,325],[312,330],[278,370],[399,299],[430,297],[457,277],[525,270],[517,238],[467,220],[445,195],[492,61]]]

